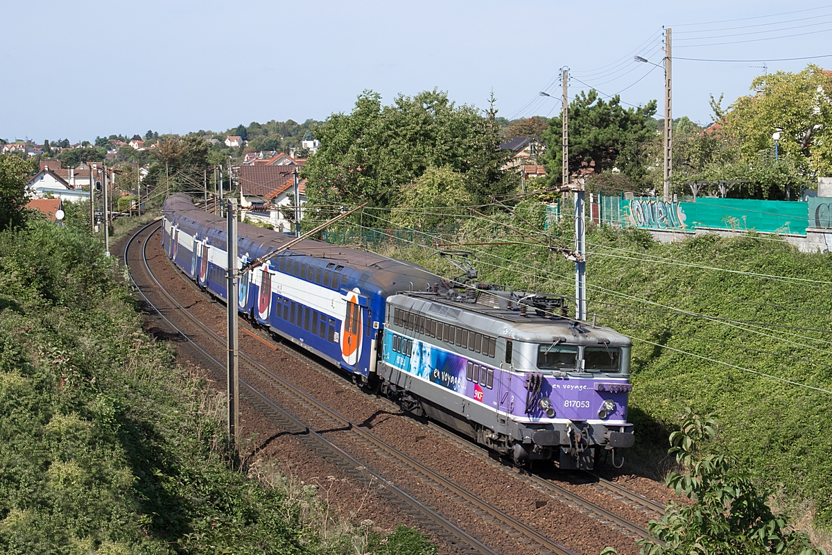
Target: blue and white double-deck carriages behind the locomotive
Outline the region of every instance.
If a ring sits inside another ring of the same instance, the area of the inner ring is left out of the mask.
[[[246,224],[237,233],[240,266],[293,239]],[[226,299],[225,219],[196,210],[190,196],[171,196],[162,245],[186,275]],[[241,276],[237,306],[250,320],[365,380],[379,359],[387,298],[426,290],[437,280],[407,262],[303,240]]]

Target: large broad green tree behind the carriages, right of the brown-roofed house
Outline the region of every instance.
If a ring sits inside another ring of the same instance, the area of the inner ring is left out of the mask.
[[[378,93],[364,91],[351,113],[329,116],[314,134],[321,146],[301,170],[311,204],[389,208],[402,186],[431,166],[464,176],[475,198],[502,191],[504,154],[493,117],[457,107],[436,89],[399,95],[386,107]]]

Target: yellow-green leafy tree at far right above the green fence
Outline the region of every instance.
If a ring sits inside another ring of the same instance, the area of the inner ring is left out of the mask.
[[[832,75],[810,64],[800,73],[776,72],[751,82],[754,95],[738,98],[721,119],[740,141],[743,161],[772,151],[781,129],[780,156],[794,156],[807,176],[832,175]]]

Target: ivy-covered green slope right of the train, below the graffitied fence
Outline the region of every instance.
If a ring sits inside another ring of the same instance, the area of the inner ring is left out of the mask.
[[[542,209],[523,208],[523,220],[494,217],[539,237]],[[552,231],[556,245],[572,244],[571,217],[564,220]],[[483,220],[468,221],[453,240],[501,237],[533,242]],[[464,248],[477,257],[483,280],[574,297],[573,263],[545,247]],[[630,457],[662,458],[686,407],[714,414],[722,429],[709,448],[737,458],[781,495],[781,506],[801,510],[799,500],[812,500],[815,522],[832,527],[832,394],[744,370],[832,390],[832,333],[826,331],[832,330],[832,256],[800,253],[762,236],[661,244],[646,231],[608,228],[590,230],[587,250],[590,320],[633,339],[629,418],[638,445]],[[418,247],[410,255],[443,275],[459,273],[437,256],[426,258],[431,252]],[[643,460],[631,462],[637,468]]]

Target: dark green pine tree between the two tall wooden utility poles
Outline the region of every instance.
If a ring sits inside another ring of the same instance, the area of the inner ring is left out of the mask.
[[[625,110],[617,95],[605,102],[594,89],[581,92],[569,104],[570,173],[600,173],[616,166],[634,181],[642,179],[646,166],[651,164],[647,146],[655,136],[654,114],[655,100],[646,106]],[[552,117],[548,124],[543,141],[549,145],[561,144],[561,116]],[[552,180],[561,176],[561,159],[560,148],[549,148],[542,156]]]

